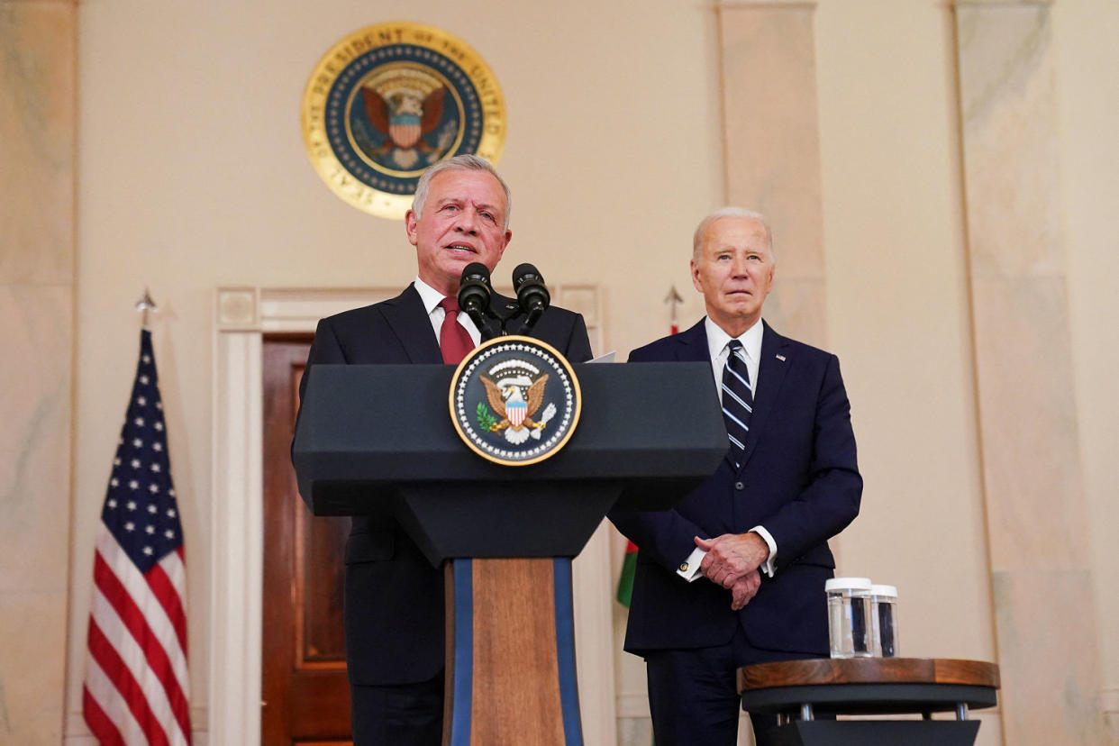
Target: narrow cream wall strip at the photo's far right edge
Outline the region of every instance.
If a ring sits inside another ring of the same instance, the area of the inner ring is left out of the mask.
[[[1103,706],[1119,743],[1119,4],[1059,2],[1057,132],[1064,201],[1069,311],[1084,492],[1096,569]],[[1075,610],[1070,610],[1075,613]]]

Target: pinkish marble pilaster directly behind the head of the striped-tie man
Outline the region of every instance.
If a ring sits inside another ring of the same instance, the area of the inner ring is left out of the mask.
[[[825,347],[826,283],[816,97],[815,2],[722,0],[726,200],[773,227],[777,280],[765,318]]]

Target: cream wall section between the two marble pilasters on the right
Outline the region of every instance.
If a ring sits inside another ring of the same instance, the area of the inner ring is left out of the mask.
[[[837,572],[899,587],[904,655],[996,660],[950,9],[821,2],[817,45],[828,337],[865,480]]]

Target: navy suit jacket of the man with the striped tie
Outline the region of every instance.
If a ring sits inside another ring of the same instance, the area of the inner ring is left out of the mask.
[[[630,355],[631,362],[673,360],[711,361],[703,321]],[[626,650],[725,644],[741,625],[756,649],[827,655],[824,582],[835,568],[827,540],[858,513],[863,491],[838,358],[767,324],[745,445],[740,469],[724,459],[673,510],[610,512],[639,548]],[[762,575],[741,611],[731,611],[730,591],[677,575],[696,548],[693,537],[755,526],[777,542],[777,570]]]

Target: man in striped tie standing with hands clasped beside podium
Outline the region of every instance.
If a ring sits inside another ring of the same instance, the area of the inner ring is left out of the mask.
[[[696,229],[692,281],[707,317],[630,361],[711,361],[730,448],[673,510],[615,508],[640,548],[626,650],[647,663],[657,746],[733,745],[745,664],[827,657],[828,538],[858,513],[847,394],[834,355],[761,320],[770,229],[723,208]],[[752,716],[759,744],[772,718]]]

